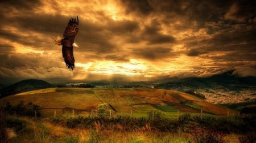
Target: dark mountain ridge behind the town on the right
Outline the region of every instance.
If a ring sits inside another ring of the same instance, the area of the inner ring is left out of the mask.
[[[242,90],[255,88],[256,77],[240,77],[233,75],[234,70],[224,72],[210,77],[187,77],[184,79],[173,79],[160,83],[155,88],[176,89],[184,92],[185,89],[224,89],[224,90]]]

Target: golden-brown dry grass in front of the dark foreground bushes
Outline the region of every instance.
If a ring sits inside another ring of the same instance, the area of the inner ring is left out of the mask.
[[[16,117],[15,117],[16,118]],[[93,128],[66,128],[52,124],[47,120],[35,120],[30,118],[18,118],[27,123],[26,128],[17,132],[17,136],[7,142],[189,142],[192,141],[190,133],[160,132],[151,127],[149,123],[143,127],[125,131],[122,125],[105,128],[101,122],[93,122]],[[224,137],[225,142],[238,143],[238,137],[234,133]]]

